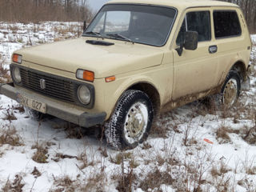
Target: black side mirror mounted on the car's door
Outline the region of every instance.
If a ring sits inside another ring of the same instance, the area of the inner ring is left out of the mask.
[[[181,42],[180,47],[176,49],[179,56],[182,56],[183,48],[186,50],[196,50],[198,48],[198,32],[189,30],[184,32],[184,34],[184,42]]]

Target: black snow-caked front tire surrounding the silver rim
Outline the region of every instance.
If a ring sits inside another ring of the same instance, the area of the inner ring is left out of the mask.
[[[145,124],[146,126],[144,126],[145,129],[140,134],[140,139],[136,142],[130,142],[125,133],[125,127],[127,125],[126,118],[129,115],[129,111],[137,103],[146,106],[148,118]],[[106,124],[106,142],[114,147],[115,150],[128,150],[138,146],[138,143],[146,140],[152,126],[153,117],[153,105],[148,95],[140,90],[126,90],[121,98],[119,98],[110,122]]]

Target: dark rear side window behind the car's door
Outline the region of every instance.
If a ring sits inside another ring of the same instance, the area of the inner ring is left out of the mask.
[[[236,11],[214,11],[215,38],[238,36],[241,32]]]

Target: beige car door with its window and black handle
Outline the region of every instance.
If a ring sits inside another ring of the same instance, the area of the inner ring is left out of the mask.
[[[218,60],[212,39],[212,19],[210,10],[190,9],[186,11],[182,26],[176,38],[176,48],[184,41],[188,30],[198,32],[198,48],[196,50],[183,49],[182,55],[173,49],[174,54],[174,90],[173,100],[191,94],[199,94],[217,86]]]

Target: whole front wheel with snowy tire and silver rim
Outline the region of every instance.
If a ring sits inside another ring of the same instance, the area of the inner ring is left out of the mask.
[[[148,136],[154,117],[147,94],[127,90],[118,100],[105,129],[106,141],[117,150],[132,149]]]

